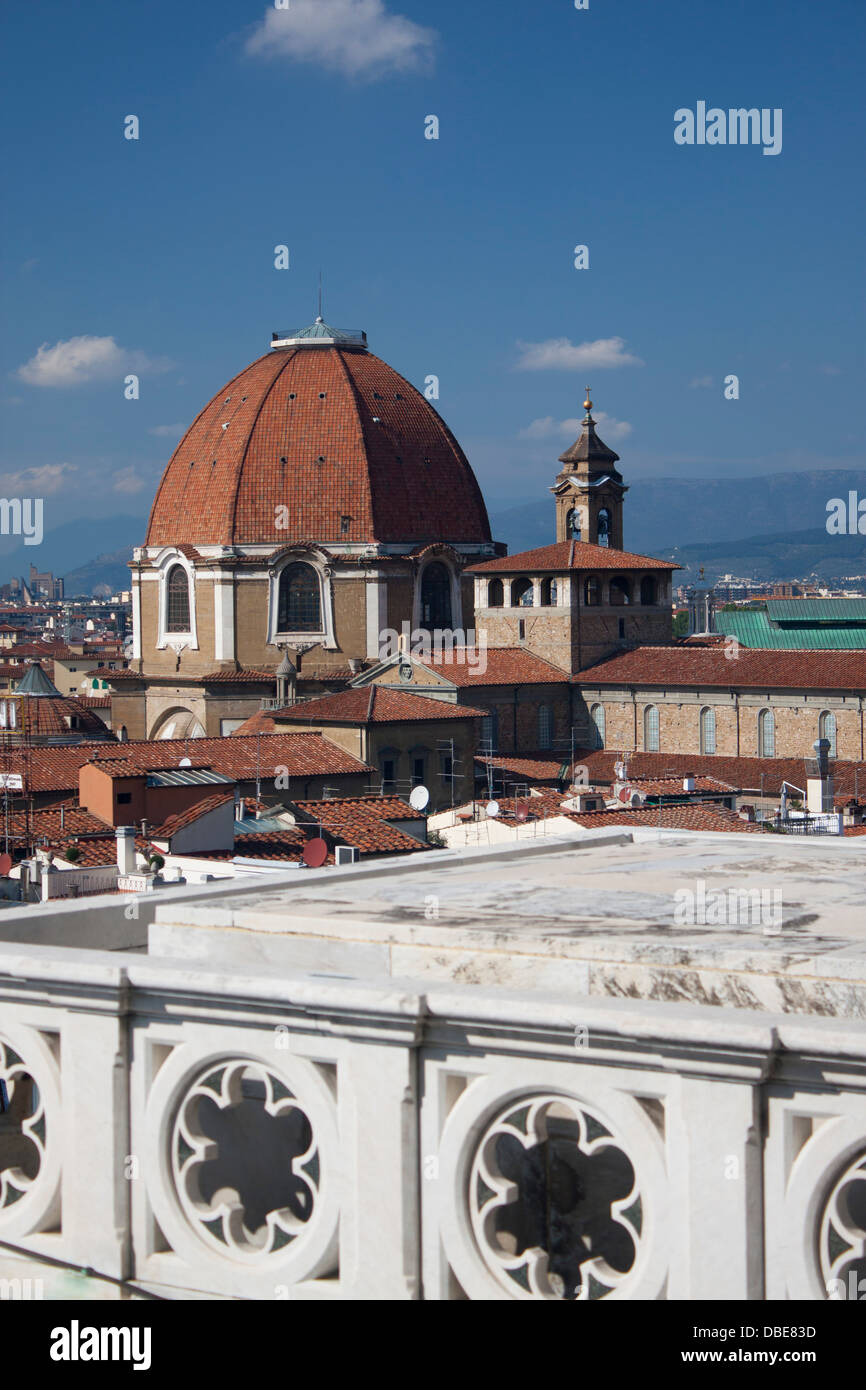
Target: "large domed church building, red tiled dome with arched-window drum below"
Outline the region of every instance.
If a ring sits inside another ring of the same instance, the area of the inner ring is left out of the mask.
[[[382,632],[471,628],[470,564],[503,552],[430,400],[363,332],[274,334],[204,406],[133,552],[131,738],[229,734],[277,696],[341,689]]]

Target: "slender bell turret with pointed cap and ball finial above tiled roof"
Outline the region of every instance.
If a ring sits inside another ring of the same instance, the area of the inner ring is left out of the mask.
[[[589,541],[623,549],[623,498],[628,491],[617,470],[619,453],[595,432],[589,386],[580,439],[559,456],[562,471],[550,488],[556,499],[556,539]]]

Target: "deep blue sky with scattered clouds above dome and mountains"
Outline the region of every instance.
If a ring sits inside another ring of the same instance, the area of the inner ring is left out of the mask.
[[[627,481],[858,467],[865,28],[860,0],[6,7],[0,495],[47,532],[145,517],[320,267],[329,321],[439,377],[491,510],[546,495],[585,382]],[[781,153],[677,146],[699,100],[780,107]]]

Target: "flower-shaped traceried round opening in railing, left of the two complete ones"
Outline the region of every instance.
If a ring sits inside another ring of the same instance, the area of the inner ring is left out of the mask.
[[[313,1125],[261,1062],[199,1074],[177,1112],[171,1170],[186,1219],[229,1257],[265,1258],[303,1238],[318,1197]]]

